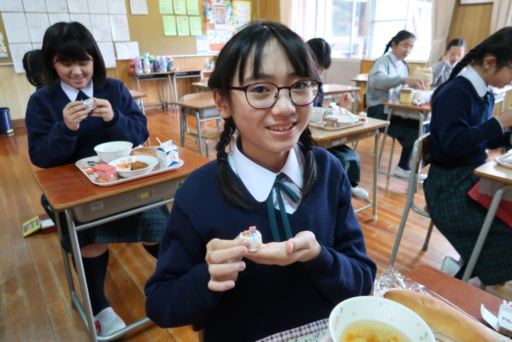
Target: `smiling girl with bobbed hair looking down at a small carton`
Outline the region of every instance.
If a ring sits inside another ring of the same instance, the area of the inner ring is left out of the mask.
[[[145,116],[121,81],[106,78],[103,57],[92,34],[83,25],[57,23],[49,27],[42,43],[42,56],[46,88],[32,94],[25,116],[29,156],[35,166],[51,168],[75,163],[96,155],[94,147],[109,141],[127,140],[137,146],[147,139]],[[94,99],[96,109],[89,111],[87,105],[76,100],[82,92]],[[54,218],[44,195],[41,203]],[[125,326],[103,291],[109,261],[108,243],[145,242],[146,250],[157,257],[166,222],[161,210],[164,211],[163,208],[148,210],[78,232],[100,336]],[[66,234],[64,215],[60,222]],[[71,252],[68,234],[61,243]]]

